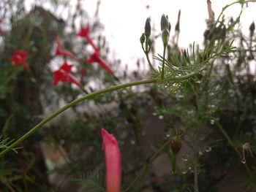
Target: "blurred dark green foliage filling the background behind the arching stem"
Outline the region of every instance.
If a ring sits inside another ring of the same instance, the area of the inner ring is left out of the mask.
[[[49,3],[55,9],[69,4]],[[97,5],[95,17],[89,18],[78,1],[76,11],[63,20],[39,4],[26,12],[23,1],[0,2],[2,150],[50,112],[84,94],[69,82],[53,87],[53,69],[64,61],[74,64],[72,74],[89,93],[150,77],[143,55],[129,64],[137,65],[131,73],[118,58],[110,58],[110,42],[100,34]],[[10,152],[0,159],[0,191],[105,191],[100,128],[118,139],[124,189],[146,166],[130,191],[255,191],[256,77],[250,67],[255,65],[255,26],[252,23],[243,34],[238,18],[222,18],[217,26],[211,19],[205,39],[234,39],[236,49],[228,57],[218,58],[205,72],[182,82],[174,96],[158,85],[140,85],[72,107],[22,142],[18,154]],[[76,35],[76,20],[79,28],[91,26],[92,39],[118,79],[86,63],[90,49]],[[167,55],[169,61],[176,55],[182,66],[187,62],[178,46],[179,23],[175,31]],[[79,61],[54,55],[56,34]],[[192,49],[193,45],[189,53]],[[29,53],[30,71],[13,66],[10,58],[15,50]],[[176,136],[181,137],[181,150],[174,158],[165,143]],[[148,161],[151,157],[154,161]]]

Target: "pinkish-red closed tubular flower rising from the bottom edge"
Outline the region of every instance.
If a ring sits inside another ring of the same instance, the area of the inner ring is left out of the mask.
[[[103,149],[106,158],[107,192],[120,192],[121,188],[121,153],[113,134],[102,128]]]

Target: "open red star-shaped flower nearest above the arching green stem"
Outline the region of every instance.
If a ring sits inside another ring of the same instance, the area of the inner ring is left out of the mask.
[[[71,68],[73,65],[67,64],[67,62],[64,62],[64,64],[61,66],[61,68],[55,72],[53,72],[53,85],[56,86],[58,82],[73,82],[75,85],[78,85],[78,87],[82,88],[83,86],[78,82],[78,80],[75,79],[71,74]]]

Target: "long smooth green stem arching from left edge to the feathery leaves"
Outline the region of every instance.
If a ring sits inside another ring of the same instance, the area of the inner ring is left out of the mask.
[[[20,142],[23,142],[24,139],[28,138],[31,136],[31,134],[34,134],[40,127],[45,125],[45,123],[48,123],[48,121],[52,120],[55,118],[57,115],[61,114],[61,112],[64,112],[65,110],[69,109],[70,107],[74,106],[75,104],[80,103],[81,101],[84,101],[86,99],[91,99],[94,96],[98,96],[102,93],[108,93],[110,91],[116,91],[121,88],[127,88],[133,85],[141,85],[141,84],[147,84],[147,83],[152,83],[152,82],[157,82],[157,80],[140,80],[140,81],[135,81],[135,82],[128,82],[125,84],[121,85],[115,85],[110,88],[105,88],[99,91],[95,91],[94,93],[90,93],[86,96],[82,96],[80,99],[76,99],[75,101],[72,101],[71,103],[67,104],[66,106],[62,107],[61,109],[57,110],[56,112],[53,112],[51,115],[49,115],[47,118],[42,120],[40,123],[37,124],[37,126],[34,126],[34,128],[31,128],[30,131],[28,131],[26,134],[24,134],[20,139],[17,141],[13,142],[12,145],[8,146],[5,148],[3,151],[0,153],[0,157],[12,150],[15,146],[17,146]]]

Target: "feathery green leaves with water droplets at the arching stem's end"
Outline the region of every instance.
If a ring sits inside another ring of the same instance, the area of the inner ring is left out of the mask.
[[[164,59],[162,55],[154,56],[154,59],[159,61],[159,67],[158,70],[152,71],[152,77],[168,88],[170,93],[175,94],[184,80],[190,77],[197,78],[196,74],[202,74],[203,70],[214,64],[215,59],[227,57],[234,48],[233,41],[211,41],[206,43],[204,50],[200,50],[194,43],[192,53],[183,50],[181,53],[172,54],[169,60]],[[161,77],[163,63],[165,63],[164,78]]]

